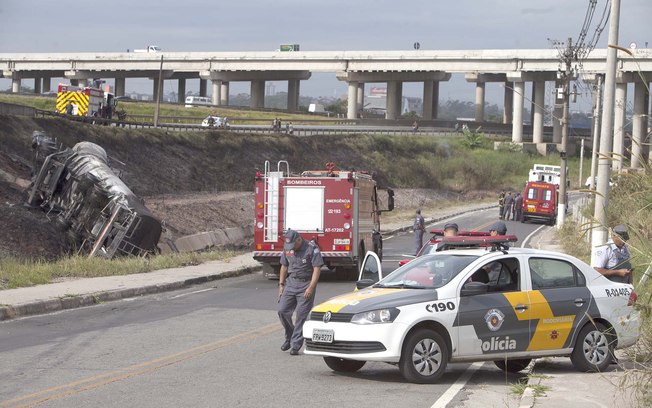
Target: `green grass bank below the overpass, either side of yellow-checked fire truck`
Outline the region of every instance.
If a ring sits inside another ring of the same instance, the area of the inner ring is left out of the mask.
[[[29,95],[12,95],[0,93],[0,102],[13,103],[17,105],[30,106],[36,109],[54,111],[56,97],[47,96],[29,96]],[[127,112],[127,121],[132,122],[152,122],[156,105],[152,102],[139,102],[135,100],[119,101],[118,109],[124,109]],[[287,113],[277,111],[257,111],[227,107],[193,107],[186,108],[182,104],[162,103],[160,105],[159,116],[162,122],[182,122],[200,124],[208,115],[226,116],[232,124],[269,124],[274,118],[279,118],[286,123],[292,121],[300,124],[302,121],[333,121],[335,119],[319,115],[309,115],[300,113]],[[173,119],[174,118],[174,119]]]

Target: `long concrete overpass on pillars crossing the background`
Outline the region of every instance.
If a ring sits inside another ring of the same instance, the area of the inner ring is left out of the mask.
[[[161,57],[163,69],[161,70]],[[645,118],[649,110],[652,81],[652,49],[638,49],[633,56],[619,53],[616,102],[616,133],[625,118],[627,84],[635,84],[634,116]],[[67,78],[85,85],[91,78],[114,78],[115,92],[123,95],[125,78],[153,79],[157,94],[159,73],[178,80],[178,94],[185,95],[186,80],[200,79],[200,94],[212,87],[214,105],[228,105],[229,84],[251,83],[251,106],[263,107],[265,81],[288,81],[288,109],[298,108],[300,81],[313,72],[333,72],[348,84],[348,118],[356,118],[364,106],[364,84],[387,83],[387,119],[400,114],[404,82],[423,82],[423,118],[437,118],[439,84],[451,74],[464,74],[476,84],[475,120],[485,119],[485,86],[504,85],[504,123],[512,124],[512,141],[523,142],[523,109],[526,84],[532,83],[533,140],[543,143],[544,93],[546,82],[557,81],[559,54],[552,49],[531,50],[414,50],[414,51],[301,51],[301,52],[163,52],[163,53],[44,53],[0,54],[2,75],[12,80],[18,92],[21,80],[34,79],[35,92],[49,91],[51,78]],[[576,67],[589,78],[606,69],[606,50],[594,50]],[[619,103],[620,101],[620,103]],[[554,117],[561,117],[560,101]],[[637,119],[638,120],[638,119]],[[554,121],[553,143],[561,140],[561,126]],[[620,130],[619,130],[620,129]],[[635,126],[633,138],[643,141],[647,127]],[[616,148],[617,149],[617,148]]]

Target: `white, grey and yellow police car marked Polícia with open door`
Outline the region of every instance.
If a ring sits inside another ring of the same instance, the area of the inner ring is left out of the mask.
[[[312,309],[305,354],[323,356],[340,372],[366,361],[398,364],[407,380],[432,383],[449,362],[493,360],[517,372],[532,358],[570,356],[581,371],[602,371],[615,348],[636,342],[631,285],[569,255],[503,246],[515,239],[444,238],[454,249],[375,283],[381,265],[368,253],[361,290]]]

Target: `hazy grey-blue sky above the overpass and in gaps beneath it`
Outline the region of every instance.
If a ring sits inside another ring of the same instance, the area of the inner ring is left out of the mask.
[[[120,52],[156,44],[165,51],[302,51],[551,48],[550,40],[577,39],[590,0],[0,0],[0,53]],[[80,6],[83,4],[83,6]],[[607,0],[597,0],[589,36]],[[652,0],[622,0],[620,45],[652,47]],[[608,30],[598,48],[607,44]],[[550,40],[549,40],[550,39]],[[189,81],[188,89],[198,85]],[[283,90],[285,85],[277,85]],[[0,89],[10,86],[0,79]],[[473,100],[473,84],[454,76],[441,99]],[[174,86],[176,88],[176,86]],[[168,89],[171,86],[167,86]],[[151,92],[145,80],[127,91]],[[248,93],[234,84],[231,93]],[[420,96],[406,85],[404,95]],[[340,96],[346,85],[313,74],[301,94]],[[590,99],[590,98],[589,98]],[[487,100],[502,105],[497,84]]]

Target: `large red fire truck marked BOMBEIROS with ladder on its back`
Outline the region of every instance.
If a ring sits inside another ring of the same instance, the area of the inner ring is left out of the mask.
[[[267,278],[277,278],[283,234],[293,229],[319,245],[338,278],[355,280],[367,251],[382,258],[380,214],[394,208],[394,192],[387,194],[381,209],[376,181],[366,172],[328,163],[326,170],[294,175],[287,161],[279,161],[276,171],[266,161],[255,181],[254,259]]]

